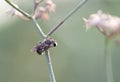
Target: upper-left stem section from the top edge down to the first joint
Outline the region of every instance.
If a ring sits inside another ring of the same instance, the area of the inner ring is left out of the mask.
[[[25,11],[23,11],[22,9],[20,9],[17,5],[15,5],[14,3],[10,2],[9,0],[5,0],[10,6],[12,6],[14,9],[16,9],[17,11],[19,11],[20,13],[22,13],[25,17],[27,17],[28,19],[32,19],[32,17],[26,13]]]

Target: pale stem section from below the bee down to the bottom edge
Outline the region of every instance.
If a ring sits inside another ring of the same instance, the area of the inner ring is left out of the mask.
[[[46,56],[46,60],[47,60],[47,64],[48,64],[48,72],[49,72],[50,82],[56,82],[55,75],[54,75],[53,68],[52,68],[52,63],[51,63],[50,52],[46,51],[45,56]]]

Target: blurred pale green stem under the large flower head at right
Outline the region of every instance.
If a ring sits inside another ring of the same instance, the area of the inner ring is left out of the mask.
[[[113,72],[112,72],[112,57],[111,57],[111,47],[110,47],[111,39],[105,38],[105,67],[106,67],[106,78],[107,82],[114,82],[113,80]]]

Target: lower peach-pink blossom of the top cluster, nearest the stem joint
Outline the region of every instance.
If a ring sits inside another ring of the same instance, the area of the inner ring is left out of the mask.
[[[35,10],[35,14],[33,15],[33,17],[35,19],[43,19],[43,20],[48,20],[49,19],[49,15],[48,13],[46,12],[45,8],[44,7],[38,7],[36,10]]]

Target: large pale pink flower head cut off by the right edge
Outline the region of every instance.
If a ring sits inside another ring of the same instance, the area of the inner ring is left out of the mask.
[[[120,33],[120,18],[103,13],[99,10],[92,14],[88,19],[83,18],[86,29],[96,26],[100,32],[107,37],[112,37]]]

